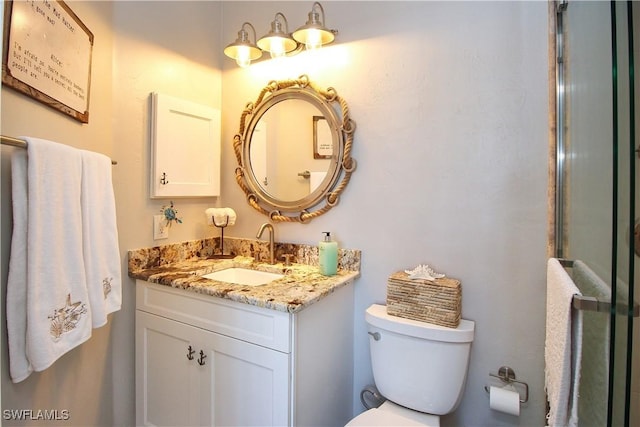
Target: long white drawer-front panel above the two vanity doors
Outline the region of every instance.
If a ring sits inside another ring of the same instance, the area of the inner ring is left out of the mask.
[[[136,280],[136,308],[290,353],[290,315],[223,298]]]

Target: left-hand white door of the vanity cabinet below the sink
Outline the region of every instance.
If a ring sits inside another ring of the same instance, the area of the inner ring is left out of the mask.
[[[199,425],[198,330],[136,310],[136,425]],[[193,359],[187,357],[189,346]]]

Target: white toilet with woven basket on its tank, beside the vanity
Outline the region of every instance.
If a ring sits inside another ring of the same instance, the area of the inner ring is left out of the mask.
[[[460,403],[474,322],[457,328],[387,314],[374,304],[365,314],[373,378],[385,401],[347,426],[440,426]]]

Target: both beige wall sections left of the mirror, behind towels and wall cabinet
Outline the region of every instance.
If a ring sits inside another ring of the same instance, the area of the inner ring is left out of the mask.
[[[94,33],[89,124],[82,125],[3,86],[2,134],[32,135],[104,153],[113,169],[123,307],[86,344],[51,368],[12,384],[6,351],[2,367],[4,409],[68,409],[74,426],[134,423],[134,284],[126,276],[126,251],[152,246],[152,216],[166,200],[149,199],[149,93],[159,91],[220,108],[221,77],[216,2],[69,2]],[[11,236],[11,147],[2,147],[2,285]],[[174,200],[182,225],[168,240],[213,234],[204,209],[215,198]],[[4,321],[4,319],[3,319]],[[4,324],[4,323],[3,323]],[[2,328],[3,349],[6,333]],[[5,425],[13,422],[4,421]]]

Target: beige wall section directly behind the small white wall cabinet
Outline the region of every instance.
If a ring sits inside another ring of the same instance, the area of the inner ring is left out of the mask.
[[[167,200],[149,199],[149,94],[177,98],[220,108],[222,49],[217,2],[114,3],[114,140],[120,175],[118,224],[122,250],[210,236],[204,210],[217,198],[174,199],[183,223],[173,225],[169,239],[154,241],[152,217]],[[114,329],[123,339],[113,347],[116,425],[133,423],[134,283],[125,281],[123,310]]]

